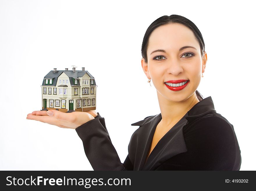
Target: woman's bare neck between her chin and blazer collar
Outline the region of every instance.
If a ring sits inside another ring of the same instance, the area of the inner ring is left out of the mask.
[[[199,102],[194,93],[185,101],[174,102],[163,97],[157,92],[158,102],[161,110],[162,126],[169,126],[171,123],[178,122],[196,103]]]

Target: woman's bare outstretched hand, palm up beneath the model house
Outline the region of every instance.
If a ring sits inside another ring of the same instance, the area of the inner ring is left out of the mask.
[[[27,115],[27,119],[32,119],[51,125],[56,125],[61,128],[75,129],[86,122],[94,119],[97,116],[95,110],[80,112],[74,111],[72,113],[63,113],[58,110],[48,111],[33,111]]]

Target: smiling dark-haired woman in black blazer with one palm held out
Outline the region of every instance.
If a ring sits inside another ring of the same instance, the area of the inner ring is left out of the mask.
[[[161,113],[131,124],[140,127],[131,136],[124,163],[95,111],[34,111],[27,119],[76,129],[94,170],[239,170],[233,125],[216,113],[211,97],[203,99],[196,90],[207,53],[195,24],[179,15],[158,18],[145,33],[141,53]]]

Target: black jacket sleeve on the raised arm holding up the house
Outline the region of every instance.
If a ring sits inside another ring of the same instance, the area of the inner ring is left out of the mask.
[[[85,154],[94,170],[133,170],[133,165],[127,155],[124,163],[111,142],[105,125],[104,117],[99,113],[85,124],[76,128],[83,142]]]

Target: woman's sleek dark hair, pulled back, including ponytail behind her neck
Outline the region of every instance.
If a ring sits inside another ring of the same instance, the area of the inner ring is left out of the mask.
[[[151,33],[157,27],[165,24],[169,24],[169,23],[180,23],[190,28],[190,30],[193,31],[198,43],[200,44],[201,56],[203,57],[204,51],[205,51],[205,42],[197,26],[195,26],[195,24],[191,20],[187,19],[186,17],[182,17],[180,15],[170,15],[170,16],[164,15],[162,17],[159,17],[154,22],[152,22],[152,24],[150,24],[150,26],[147,28],[147,31],[144,35],[142,46],[141,46],[141,55],[142,55],[142,58],[145,59],[145,62],[147,63],[147,47],[148,47],[148,40]],[[203,99],[202,95],[197,90],[195,91],[195,94],[199,101]]]

